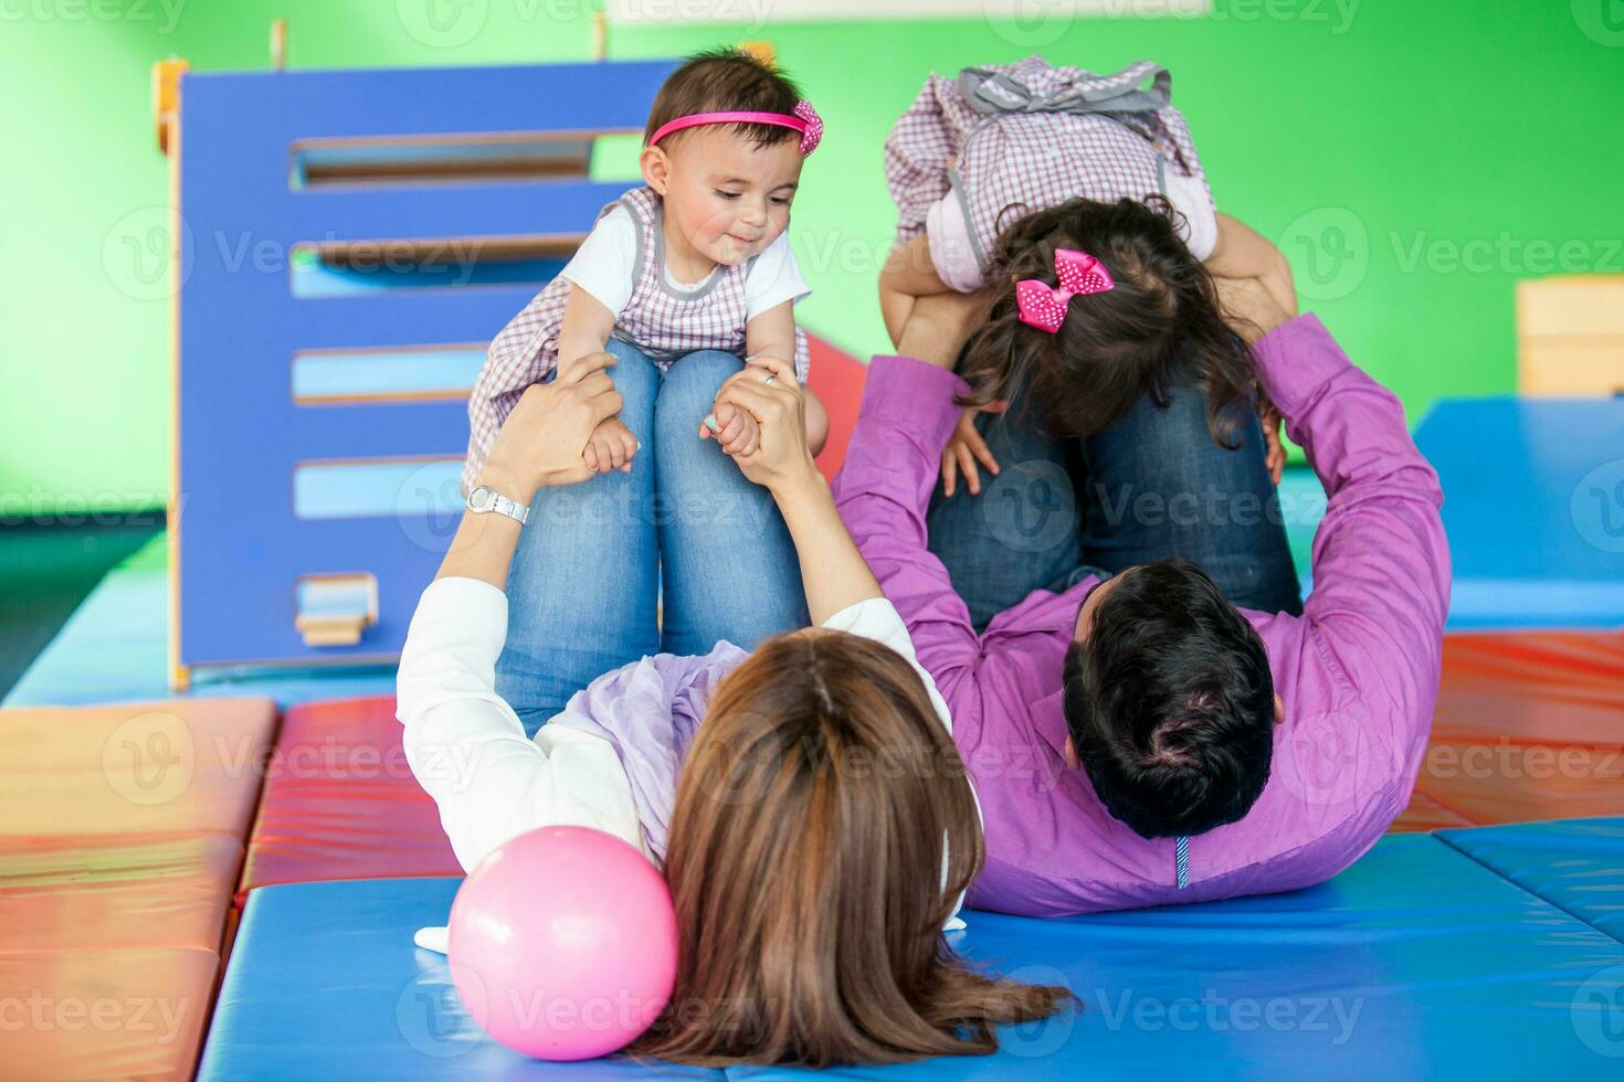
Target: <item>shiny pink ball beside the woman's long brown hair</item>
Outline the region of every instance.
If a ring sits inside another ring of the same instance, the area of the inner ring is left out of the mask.
[[[538,1059],[591,1059],[646,1030],[677,978],[677,917],[659,871],[620,839],[542,827],[492,852],[451,904],[463,1007]]]

